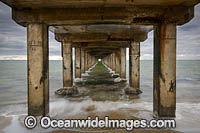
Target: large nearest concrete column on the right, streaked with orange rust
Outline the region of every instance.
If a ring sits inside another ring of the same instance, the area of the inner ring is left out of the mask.
[[[175,117],[176,25],[154,26],[153,111],[158,117]]]

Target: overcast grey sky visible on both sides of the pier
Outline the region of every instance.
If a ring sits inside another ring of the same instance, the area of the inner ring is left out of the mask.
[[[60,58],[60,43],[49,32],[51,59]],[[153,32],[141,43],[141,59],[152,59]],[[26,58],[26,28],[11,18],[11,8],[0,2],[0,59]],[[177,59],[200,59],[200,4],[195,7],[195,17],[177,28]]]

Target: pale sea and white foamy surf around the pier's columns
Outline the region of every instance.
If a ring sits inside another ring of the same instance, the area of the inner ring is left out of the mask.
[[[127,61],[128,62],[128,61]],[[76,115],[85,106],[94,104],[100,112],[130,107],[140,110],[138,116],[152,118],[153,62],[141,61],[140,86],[143,93],[133,101],[69,101],[56,97],[54,91],[62,87],[62,61],[50,61],[50,115]],[[127,64],[128,78],[128,64]],[[200,131],[200,61],[177,61],[177,110],[178,131]],[[143,110],[147,110],[144,112]],[[27,113],[26,61],[0,61],[0,116],[13,117]],[[16,120],[17,121],[17,120]],[[15,123],[15,122],[12,122]],[[13,131],[10,124],[5,132]],[[27,132],[24,129],[19,132]]]

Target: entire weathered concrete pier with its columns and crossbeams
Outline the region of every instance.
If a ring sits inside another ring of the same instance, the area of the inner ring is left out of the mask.
[[[49,113],[48,31],[62,45],[63,87],[98,59],[126,78],[129,48],[130,88],[140,89],[140,42],[154,31],[153,112],[175,117],[176,26],[188,23],[199,0],[1,0],[12,19],[27,28],[28,114]]]

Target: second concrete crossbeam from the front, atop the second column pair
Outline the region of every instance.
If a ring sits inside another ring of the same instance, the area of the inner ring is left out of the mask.
[[[71,42],[97,41],[144,41],[147,33],[153,29],[147,25],[91,24],[78,26],[54,26],[50,30],[56,38],[66,36]]]

